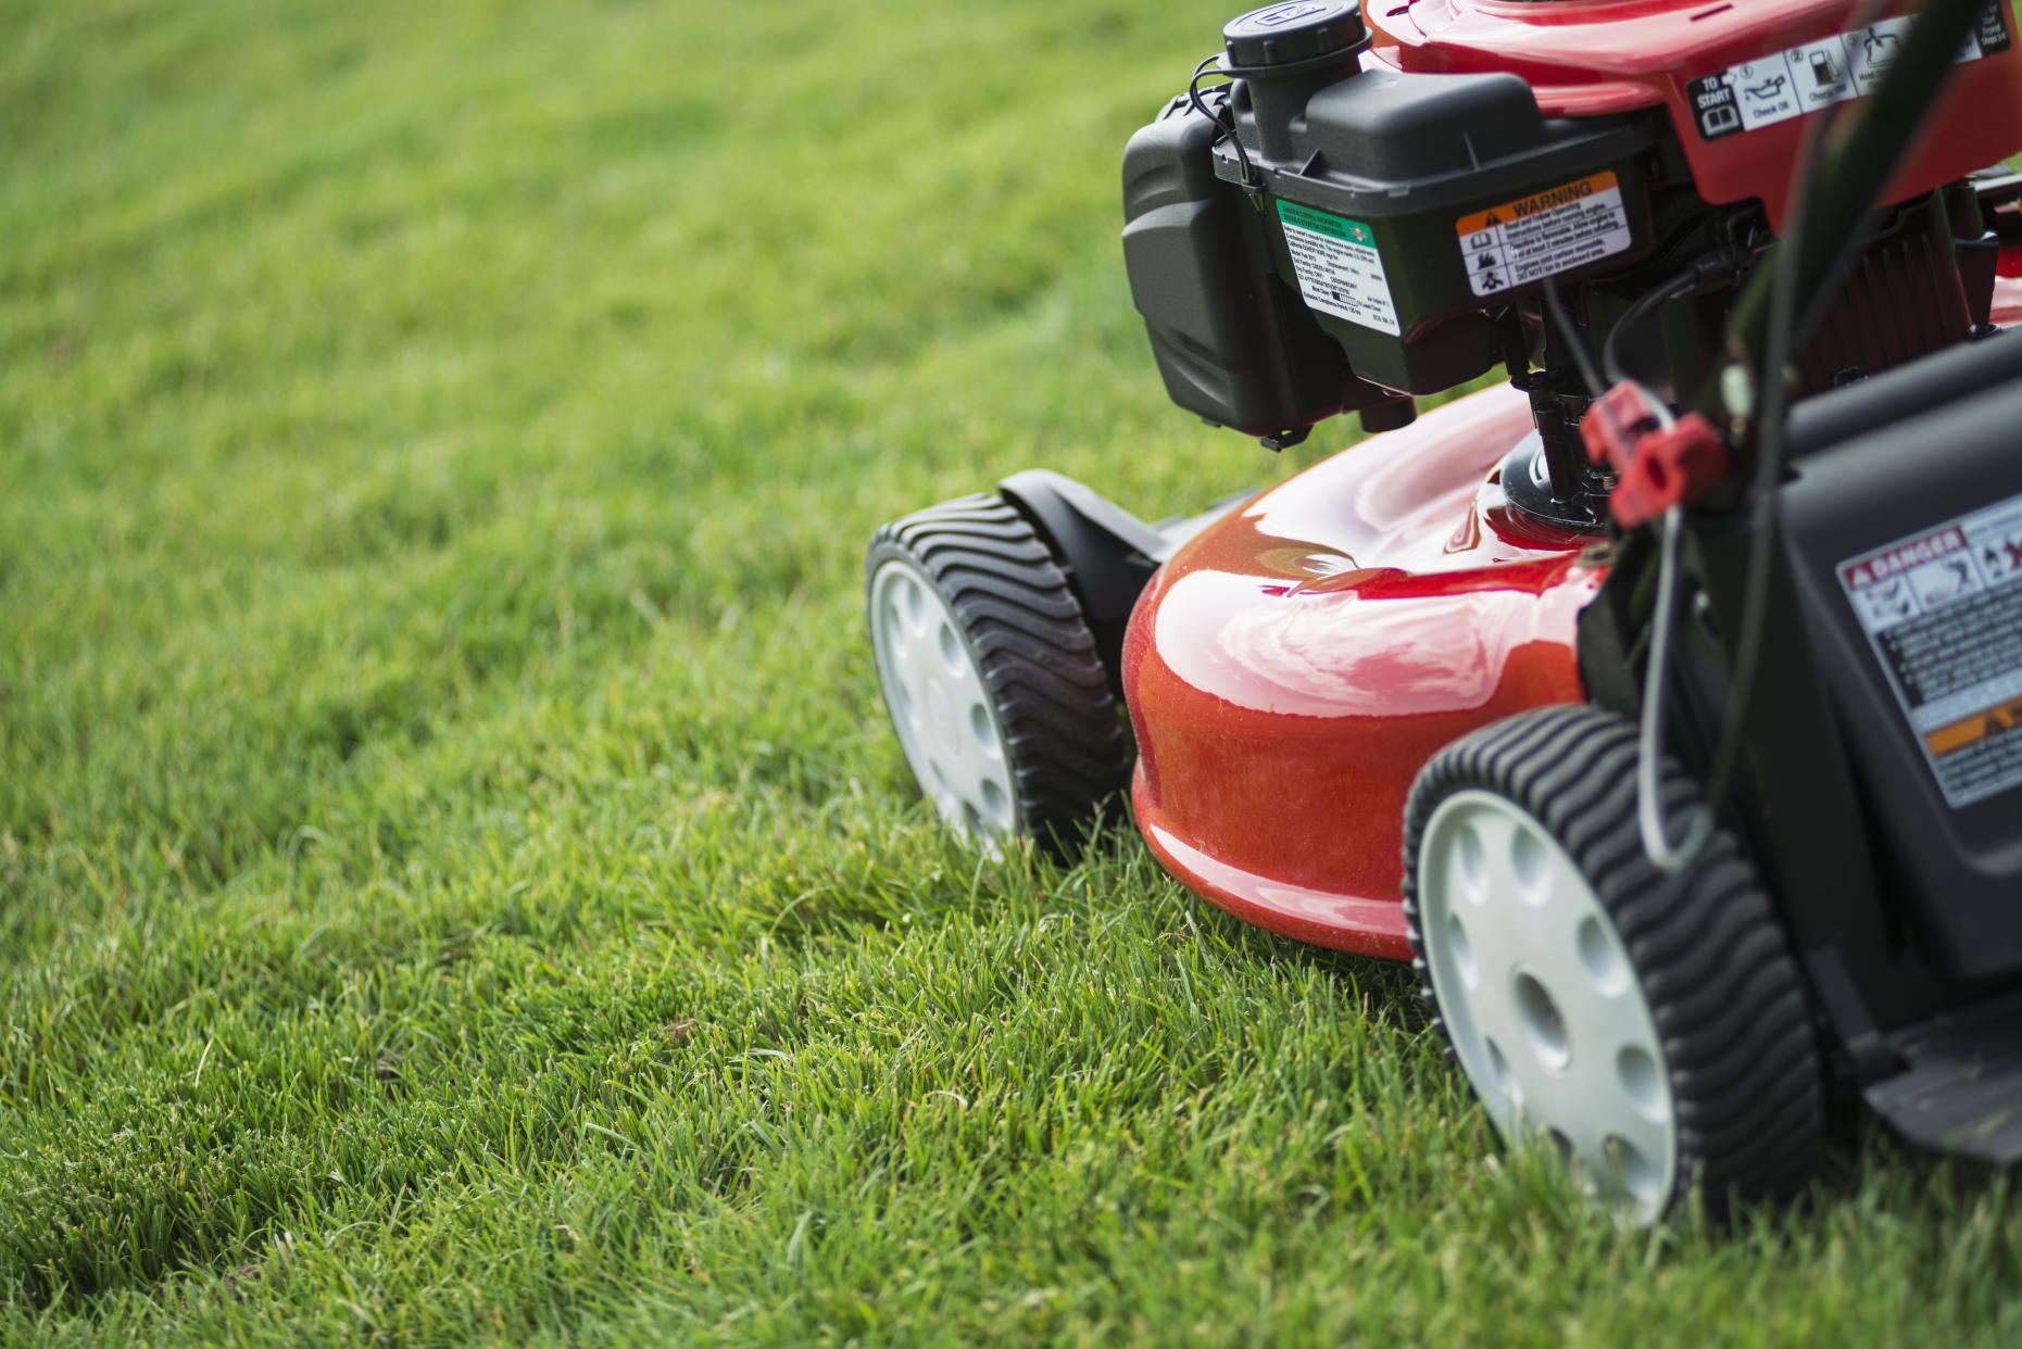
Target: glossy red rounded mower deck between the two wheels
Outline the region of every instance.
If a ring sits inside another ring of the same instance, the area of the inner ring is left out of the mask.
[[[1583,702],[1605,560],[1516,514],[1529,400],[1490,388],[1306,469],[1187,542],[1124,641],[1132,803],[1187,888],[1298,940],[1405,959],[1403,803],[1456,736]]]

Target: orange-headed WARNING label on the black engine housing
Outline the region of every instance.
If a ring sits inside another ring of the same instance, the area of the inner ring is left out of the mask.
[[[1614,174],[1476,210],[1460,216],[1454,231],[1476,295],[1573,271],[1630,247],[1630,218]]]

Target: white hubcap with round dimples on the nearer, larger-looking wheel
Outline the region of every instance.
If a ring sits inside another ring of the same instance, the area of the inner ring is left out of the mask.
[[[1419,934],[1462,1070],[1504,1139],[1549,1139],[1587,1193],[1654,1222],[1678,1118],[1614,920],[1512,801],[1458,791],[1426,823]]]

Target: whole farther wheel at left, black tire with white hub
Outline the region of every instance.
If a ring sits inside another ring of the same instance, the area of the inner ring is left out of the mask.
[[[886,706],[940,817],[985,847],[1072,845],[1130,758],[1039,534],[997,496],[958,498],[878,530],[863,578]]]

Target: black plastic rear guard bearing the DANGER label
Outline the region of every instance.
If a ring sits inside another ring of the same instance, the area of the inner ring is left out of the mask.
[[[1901,380],[1872,380],[1874,388],[1844,402],[1820,398],[1806,419],[1816,425],[1791,419],[1794,449],[1804,453],[1781,489],[1791,572],[1822,692],[1856,771],[1876,878],[1923,957],[1963,979],[2022,975],[2022,777],[2012,758],[2022,740],[2004,730],[2022,647],[2022,591],[2006,552],[2014,536],[2008,520],[2022,508],[2022,378],[1982,384],[1882,425],[1864,419],[1860,433],[1820,449],[1798,433],[1834,421],[1846,404],[1880,404],[1899,386],[1919,394],[1915,407],[1927,392],[1919,382],[1943,388],[1957,374],[2000,374],[2016,358],[2022,334],[2002,334],[1905,366]],[[1887,415],[1885,407],[1874,411]],[[1992,542],[1973,532],[1973,522],[1988,518],[2000,522]],[[1949,564],[1925,556],[1943,548],[1955,550]],[[1913,576],[1947,566],[1959,574],[1957,599],[1911,595],[1923,584]],[[1870,639],[1850,599],[1862,584],[1927,609],[1891,627],[1887,639]],[[1887,663],[1885,645],[1897,651]],[[1929,671],[1911,663],[1923,659]],[[1951,686],[1941,680],[1957,686],[1949,704],[1941,694]],[[1919,692],[1899,692],[1917,682],[1925,682]],[[1975,690],[1994,692],[1982,698]],[[1911,722],[1913,700],[1929,700],[1923,724]],[[1943,771],[1937,756],[1951,750],[1933,740],[1929,724],[1941,712],[1975,726],[1978,736]]]

